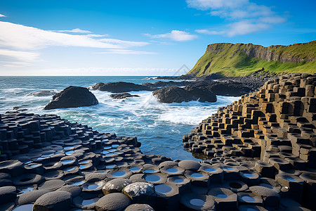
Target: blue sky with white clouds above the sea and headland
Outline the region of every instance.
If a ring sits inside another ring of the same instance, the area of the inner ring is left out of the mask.
[[[316,39],[315,0],[0,1],[0,75],[182,75],[208,44]]]

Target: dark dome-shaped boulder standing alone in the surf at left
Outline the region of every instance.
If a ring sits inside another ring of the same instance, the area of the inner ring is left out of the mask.
[[[94,94],[84,87],[67,87],[55,94],[53,99],[44,107],[44,110],[55,108],[77,108],[81,106],[94,106],[98,100]]]

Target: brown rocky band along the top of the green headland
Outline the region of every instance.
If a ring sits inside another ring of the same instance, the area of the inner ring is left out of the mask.
[[[249,56],[249,58],[259,58],[266,61],[279,61],[282,63],[301,63],[302,61],[310,62],[316,60],[315,49],[314,51],[307,51],[302,55],[300,55],[299,51],[295,51],[295,49],[300,49],[307,45],[316,46],[316,41],[293,44],[289,46],[277,45],[268,47],[254,44],[218,43],[208,45],[206,52],[222,53],[223,51],[228,51],[228,49],[237,46],[235,53],[237,53],[237,51],[243,51],[247,56]],[[290,49],[293,50],[289,51]]]

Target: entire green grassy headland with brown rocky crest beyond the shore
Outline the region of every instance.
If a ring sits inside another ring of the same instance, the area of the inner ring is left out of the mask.
[[[196,77],[218,72],[225,76],[270,72],[316,72],[316,41],[289,46],[218,43],[207,46],[204,55],[188,72]]]

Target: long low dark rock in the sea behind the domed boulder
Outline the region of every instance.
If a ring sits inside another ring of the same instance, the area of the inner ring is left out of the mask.
[[[144,86],[142,84],[133,84],[129,82],[110,82],[107,84],[94,84],[89,89],[99,91],[110,91],[113,93],[129,92],[129,91],[152,91],[154,88]]]

